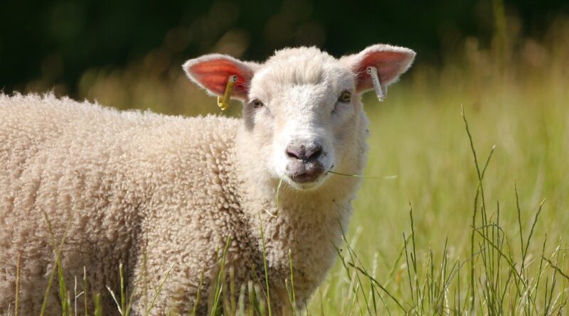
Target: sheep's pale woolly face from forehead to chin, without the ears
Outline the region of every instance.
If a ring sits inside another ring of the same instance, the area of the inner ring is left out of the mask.
[[[267,169],[299,189],[317,187],[356,146],[361,104],[351,70],[316,48],[281,50],[251,80],[243,118]]]

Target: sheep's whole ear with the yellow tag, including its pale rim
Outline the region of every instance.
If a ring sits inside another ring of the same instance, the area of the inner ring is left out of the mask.
[[[191,81],[213,95],[223,95],[229,77],[237,76],[231,97],[243,101],[249,93],[254,66],[228,55],[210,54],[188,60],[182,67]]]

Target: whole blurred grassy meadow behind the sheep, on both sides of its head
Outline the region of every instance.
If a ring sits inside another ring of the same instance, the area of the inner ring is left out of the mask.
[[[442,65],[419,59],[385,102],[365,95],[365,175],[378,178],[363,180],[336,266],[299,313],[567,315],[567,26],[539,41],[464,40]],[[164,58],[87,70],[80,97],[218,113]]]

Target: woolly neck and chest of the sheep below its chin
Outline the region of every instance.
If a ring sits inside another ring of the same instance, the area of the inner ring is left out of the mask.
[[[243,148],[243,146],[238,146]],[[290,278],[289,254],[299,301],[306,300],[324,279],[334,263],[335,247],[340,246],[341,229],[347,229],[351,216],[351,199],[358,187],[357,178],[331,177],[317,190],[297,191],[283,187],[278,179],[265,174],[252,174],[251,153],[235,153],[238,157],[240,182],[243,185],[243,212],[248,217],[252,247],[265,252],[269,275],[275,291],[285,291]],[[258,157],[258,156],[257,156]],[[261,226],[265,247],[261,243]],[[257,264],[258,266],[258,264]],[[257,267],[262,273],[262,266]],[[286,293],[286,292],[285,292]]]

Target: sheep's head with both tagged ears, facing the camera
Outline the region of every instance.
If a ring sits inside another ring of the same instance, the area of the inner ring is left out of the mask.
[[[329,170],[361,172],[351,165],[364,154],[361,93],[373,89],[366,70],[376,67],[385,89],[414,57],[408,48],[381,44],[339,59],[317,48],[286,48],[262,64],[211,54],[188,60],[184,70],[218,96],[237,76],[231,97],[243,102],[250,146],[263,158],[251,163],[304,190],[325,182]]]

